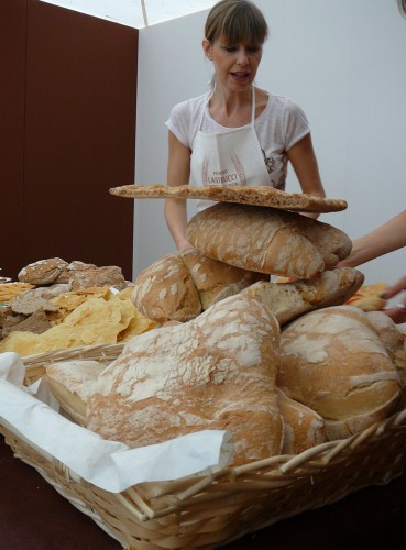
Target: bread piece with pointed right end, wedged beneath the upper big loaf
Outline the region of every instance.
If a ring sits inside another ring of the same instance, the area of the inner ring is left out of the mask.
[[[284,326],[308,311],[344,304],[363,280],[364,275],[353,267],[336,267],[312,279],[293,283],[261,280],[242,293],[262,301]]]

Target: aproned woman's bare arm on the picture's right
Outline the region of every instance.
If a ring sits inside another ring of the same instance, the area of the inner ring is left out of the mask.
[[[316,197],[326,197],[310,134],[305,135],[287,152],[287,158],[299,180],[301,191]],[[317,212],[303,212],[309,218],[318,218]]]

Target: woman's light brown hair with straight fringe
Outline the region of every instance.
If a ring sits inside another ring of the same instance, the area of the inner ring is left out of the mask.
[[[205,37],[211,44],[222,36],[230,45],[262,45],[267,33],[262,11],[249,0],[220,0],[211,8],[205,25]]]

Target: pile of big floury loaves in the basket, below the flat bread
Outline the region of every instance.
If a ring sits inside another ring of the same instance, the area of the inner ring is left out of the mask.
[[[334,268],[348,235],[241,197],[191,218],[194,248],[135,279],[134,305],[156,328],[107,367],[47,369],[73,419],[130,447],[229,430],[238,465],[347,438],[396,410],[404,338],[384,314],[343,305],[364,280]]]

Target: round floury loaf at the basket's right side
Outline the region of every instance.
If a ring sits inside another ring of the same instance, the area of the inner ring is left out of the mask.
[[[341,439],[384,418],[400,396],[398,373],[365,314],[337,306],[284,328],[277,385],[326,420]]]

